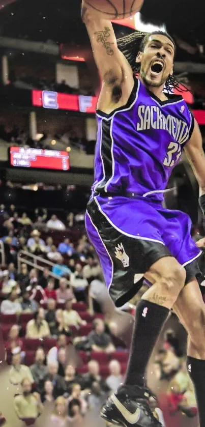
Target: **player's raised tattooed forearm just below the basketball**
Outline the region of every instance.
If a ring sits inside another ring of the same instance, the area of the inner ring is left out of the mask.
[[[95,62],[102,80],[111,87],[118,86],[125,78],[125,68],[129,66],[118,49],[111,22],[101,19],[97,12],[84,2],[82,2],[81,16],[89,33]]]

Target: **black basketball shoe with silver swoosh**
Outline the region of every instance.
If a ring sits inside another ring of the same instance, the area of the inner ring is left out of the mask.
[[[150,409],[151,395],[145,387],[122,385],[108,398],[100,416],[123,427],[162,427]]]

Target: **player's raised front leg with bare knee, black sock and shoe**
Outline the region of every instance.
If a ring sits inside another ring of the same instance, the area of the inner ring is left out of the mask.
[[[161,424],[153,417],[148,405],[145,370],[169,310],[184,287],[186,272],[172,257],[163,257],[144,274],[152,287],[136,307],[130,359],[125,383],[110,396],[101,416],[131,427]]]

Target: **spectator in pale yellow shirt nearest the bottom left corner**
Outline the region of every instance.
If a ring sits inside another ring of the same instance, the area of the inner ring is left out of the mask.
[[[25,421],[26,425],[35,422],[43,411],[40,395],[37,392],[32,393],[32,382],[29,378],[21,381],[23,394],[17,394],[14,397],[14,409],[18,418]]]

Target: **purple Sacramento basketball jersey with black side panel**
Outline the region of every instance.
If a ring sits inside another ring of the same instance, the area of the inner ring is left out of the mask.
[[[184,99],[168,97],[160,101],[135,79],[125,106],[108,115],[97,110],[94,192],[133,192],[163,200],[194,128]]]

